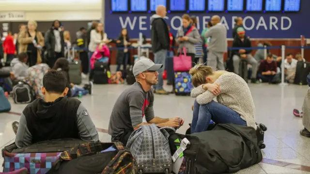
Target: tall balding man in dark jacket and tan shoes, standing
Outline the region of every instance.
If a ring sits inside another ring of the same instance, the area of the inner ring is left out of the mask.
[[[151,40],[152,50],[154,52],[154,61],[156,64],[163,64],[164,67],[170,44],[168,26],[164,20],[166,14],[166,7],[158,5],[156,8],[156,14],[151,17]],[[154,93],[168,94],[168,92],[163,88],[163,69],[158,70],[158,73],[158,84],[153,86]]]

